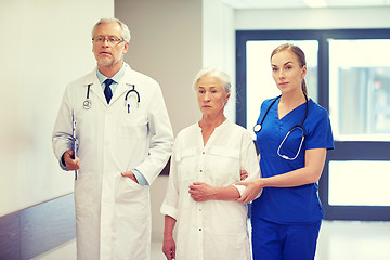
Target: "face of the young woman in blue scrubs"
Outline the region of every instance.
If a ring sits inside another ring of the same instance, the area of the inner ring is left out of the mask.
[[[307,67],[301,67],[297,55],[288,50],[274,54],[271,58],[272,77],[282,92],[301,90]]]

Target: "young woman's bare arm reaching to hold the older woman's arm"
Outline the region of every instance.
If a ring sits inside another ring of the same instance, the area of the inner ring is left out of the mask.
[[[246,186],[246,191],[238,199],[240,203],[255,200],[263,187],[292,187],[320,180],[326,158],[326,148],[307,150],[304,154],[306,165],[303,168],[270,178],[238,182],[237,185]]]

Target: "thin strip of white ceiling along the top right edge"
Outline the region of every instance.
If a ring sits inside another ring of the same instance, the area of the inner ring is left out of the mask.
[[[220,0],[233,9],[373,8],[390,6],[390,0]],[[316,5],[316,3],[320,4]],[[311,6],[310,6],[311,5]]]

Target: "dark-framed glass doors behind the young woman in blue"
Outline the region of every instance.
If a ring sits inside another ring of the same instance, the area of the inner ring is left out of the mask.
[[[325,219],[390,220],[390,29],[237,31],[236,120],[247,129],[280,94],[270,55],[283,42],[304,51],[309,95],[333,126],[318,191]]]

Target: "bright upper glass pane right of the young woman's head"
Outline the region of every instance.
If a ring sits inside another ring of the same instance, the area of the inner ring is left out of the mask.
[[[330,118],[339,141],[390,141],[390,40],[329,40]]]

